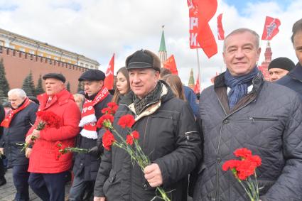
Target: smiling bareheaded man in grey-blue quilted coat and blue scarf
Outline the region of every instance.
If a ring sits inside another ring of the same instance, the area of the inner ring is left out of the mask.
[[[232,31],[224,44],[226,72],[200,95],[203,162],[194,200],[249,200],[222,164],[237,148],[262,159],[257,176],[262,201],[302,199],[302,104],[296,92],[266,82],[257,68],[259,36]]]

